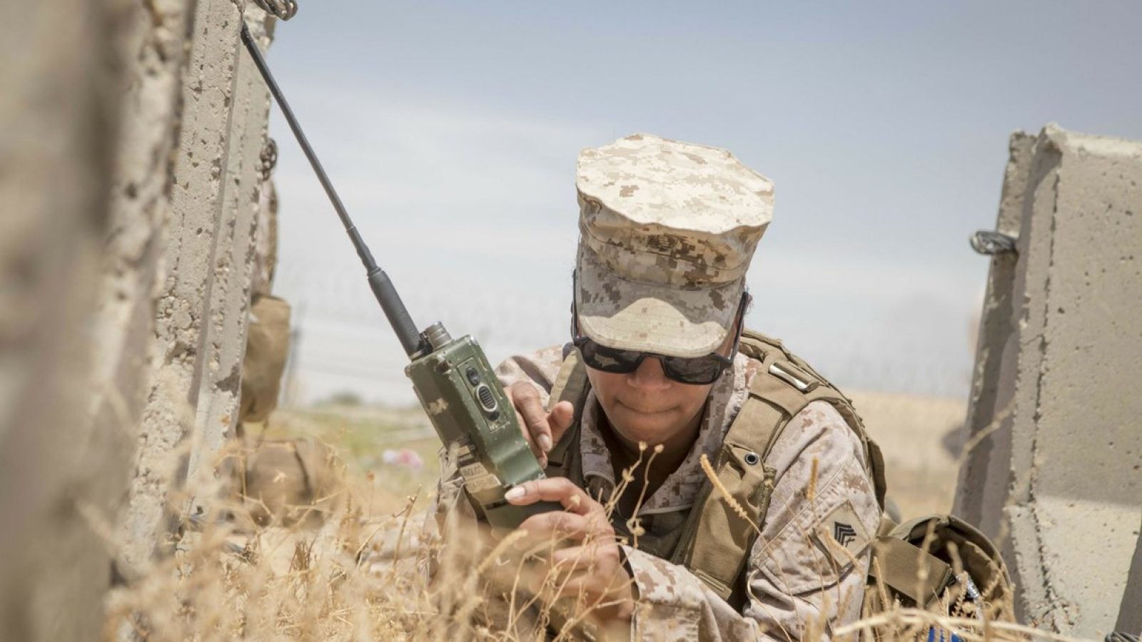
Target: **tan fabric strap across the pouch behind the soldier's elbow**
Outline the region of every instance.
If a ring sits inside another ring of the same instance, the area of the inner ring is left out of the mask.
[[[951,567],[939,557],[895,537],[877,537],[872,555],[877,563],[869,577],[926,609],[952,580]]]

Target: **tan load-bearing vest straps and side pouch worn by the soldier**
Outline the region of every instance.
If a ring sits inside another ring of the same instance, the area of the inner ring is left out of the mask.
[[[746,330],[740,350],[762,363],[749,395],[734,418],[722,449],[711,463],[721,484],[747,509],[756,524],[764,523],[777,472],[766,464],[781,431],[814,401],[830,403],[864,446],[866,468],[876,500],[884,514],[886,483],[884,458],[864,431],[852,402],[779,339]],[[572,350],[550,393],[550,404],[571,401],[574,423],[549,454],[548,473],[574,476],[579,420],[589,383],[586,367]],[[746,602],[746,560],[757,531],[738,514],[708,480],[677,537],[670,560],[685,565],[727,603],[741,609]],[[966,575],[965,575],[966,572]],[[971,588],[968,588],[971,587]],[[1005,604],[1011,580],[995,545],[976,529],[952,515],[928,515],[896,524],[883,515],[872,543],[863,615],[894,605],[919,607],[946,615],[978,613],[989,619],[1011,619]],[[974,605],[974,608],[972,607]]]

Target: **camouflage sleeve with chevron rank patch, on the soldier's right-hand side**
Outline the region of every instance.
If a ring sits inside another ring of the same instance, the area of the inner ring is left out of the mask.
[[[858,619],[879,522],[863,458],[859,438],[827,402],[786,426],[766,462],[777,478],[747,562],[742,612],[685,568],[624,547],[638,593],[633,637],[828,640]]]

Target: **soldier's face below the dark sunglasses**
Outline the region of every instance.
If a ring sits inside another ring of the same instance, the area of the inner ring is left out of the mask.
[[[734,332],[726,337],[722,354],[729,355],[733,337]],[[667,451],[689,450],[714,387],[668,379],[662,363],[652,356],[643,359],[634,372],[587,368],[587,377],[611,427],[632,449],[645,442],[650,448],[661,443]]]

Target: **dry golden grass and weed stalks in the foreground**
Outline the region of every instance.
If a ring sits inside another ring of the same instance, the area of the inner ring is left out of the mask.
[[[657,451],[645,462],[643,483],[649,479],[646,470],[654,455]],[[606,509],[616,509],[642,463],[640,458],[624,471],[605,499]],[[753,516],[714,474],[708,458],[701,457],[700,463],[724,500],[759,532]],[[214,500],[212,514],[200,531],[184,529],[170,556],[155,561],[146,573],[113,592],[103,637],[120,639],[124,631],[132,631],[143,640],[508,642],[534,639],[550,626],[556,640],[574,640],[580,636],[580,627],[589,624],[592,612],[609,605],[598,600],[562,611],[549,607],[542,599],[545,591],[558,592],[571,576],[569,571],[576,569],[537,569],[526,562],[525,555],[515,554],[522,533],[490,545],[469,543],[463,552],[466,554],[459,555],[444,549],[439,540],[420,539],[424,532],[420,516],[413,511],[416,496],[401,509],[370,519],[371,487],[360,484],[356,490],[349,487],[344,501],[324,515],[319,530],[300,523],[284,527],[280,522],[255,530],[252,521],[220,519],[241,517],[243,505]],[[644,499],[642,489],[637,505]],[[176,505],[183,500],[172,498]],[[632,527],[637,525],[637,521],[632,521]],[[450,523],[444,528],[459,525]],[[811,537],[809,532],[802,535]],[[540,545],[547,552],[556,546],[557,541]],[[434,579],[429,579],[427,569],[433,563],[437,569]],[[822,586],[827,570],[818,569]],[[501,584],[489,592],[492,576]],[[888,603],[883,586],[867,591],[880,591],[884,603]],[[988,587],[984,593],[989,593]],[[830,608],[845,610],[854,597],[838,592],[828,601]],[[785,634],[812,640],[829,632],[823,620],[810,619],[798,623],[799,632]],[[899,604],[834,628],[831,634],[836,639],[871,639],[876,634],[878,640],[903,640],[923,636],[931,627],[956,631],[965,640],[1027,636],[1067,640],[1026,626],[981,624],[976,619],[942,617]]]

